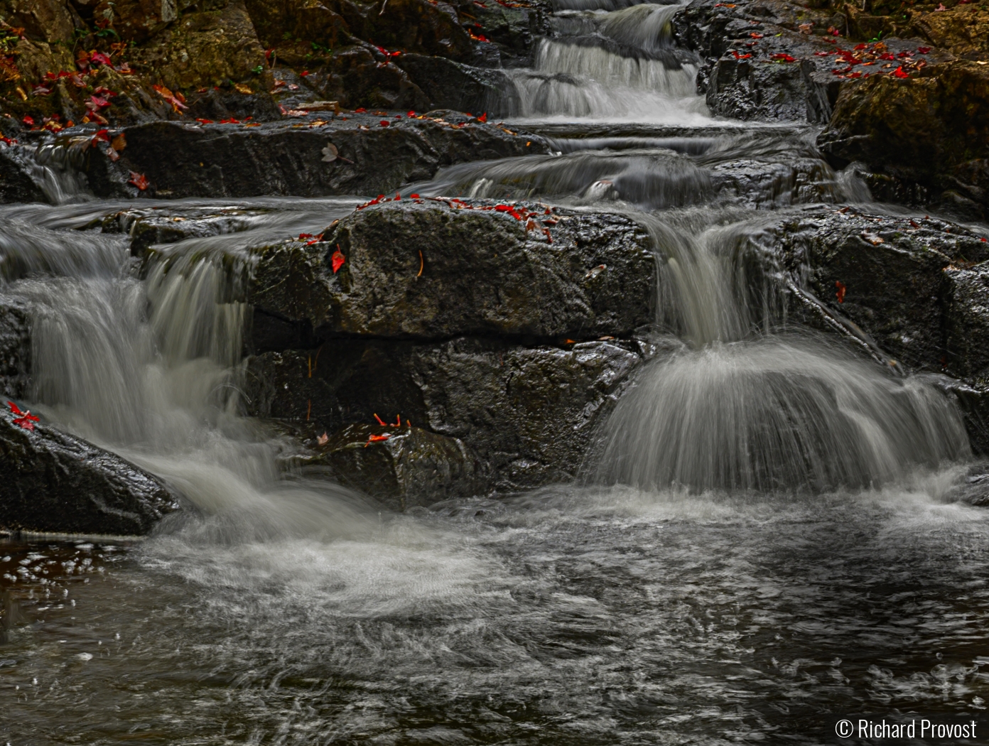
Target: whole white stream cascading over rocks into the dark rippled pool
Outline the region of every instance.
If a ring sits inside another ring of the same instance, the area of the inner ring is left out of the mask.
[[[202,513],[143,542],[0,543],[0,743],[817,744],[847,713],[984,710],[989,517],[945,497],[958,413],[747,295],[737,249],[767,215],[867,190],[810,131],[710,119],[675,8],[562,0],[511,73],[556,154],[408,190],[652,235],[673,351],[580,485],[390,514],[280,472],[290,445],[237,414],[247,248],[353,198],[157,203],[226,228],[159,247],[145,279],[125,235],[80,230],[124,203],[63,185],[0,208],[33,406]],[[730,188],[740,168],[756,186]]]

